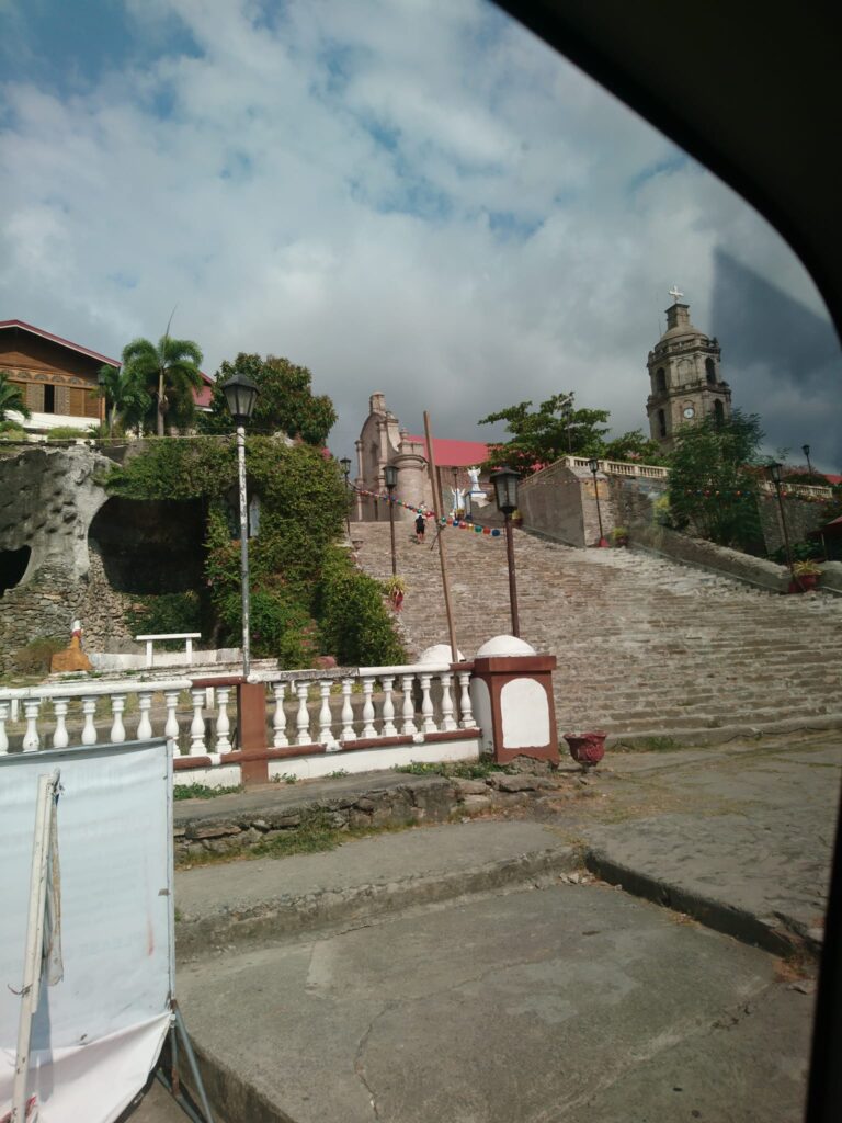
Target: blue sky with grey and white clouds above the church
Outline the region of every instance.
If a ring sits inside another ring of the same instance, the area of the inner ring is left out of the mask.
[[[674,283],[769,449],[842,471],[842,362],[730,190],[485,0],[0,0],[0,319],[313,372],[353,453],[575,390],[646,428]]]

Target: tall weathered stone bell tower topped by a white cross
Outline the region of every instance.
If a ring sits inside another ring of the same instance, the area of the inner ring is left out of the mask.
[[[720,345],[690,323],[689,304],[677,286],[667,309],[667,330],[649,351],[649,431],[665,449],[672,448],[677,430],[713,414],[731,417],[731,387],[722,381]]]

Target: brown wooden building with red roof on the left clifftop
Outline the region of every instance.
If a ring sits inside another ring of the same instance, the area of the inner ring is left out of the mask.
[[[119,367],[120,360],[22,320],[0,321],[0,371],[31,411],[31,418],[20,419],[31,432],[62,426],[82,433],[103,421],[104,400],[97,394],[101,366]],[[202,378],[204,385],[193,396],[196,409],[207,410],[213,380],[205,374]]]

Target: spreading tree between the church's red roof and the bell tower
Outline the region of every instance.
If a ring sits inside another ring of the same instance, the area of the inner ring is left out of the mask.
[[[507,464],[528,475],[561,456],[602,456],[607,410],[577,410],[575,395],[553,394],[537,410],[520,402],[481,418],[478,424],[505,421],[510,440],[492,448],[492,465]]]

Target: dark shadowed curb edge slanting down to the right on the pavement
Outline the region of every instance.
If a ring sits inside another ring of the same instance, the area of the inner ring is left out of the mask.
[[[676,913],[685,913],[705,928],[731,935],[742,943],[762,948],[775,956],[808,952],[818,958],[822,941],[791,917],[779,913],[775,916],[756,916],[715,897],[659,880],[650,874],[624,866],[603,850],[585,851],[585,866],[596,877],[610,885],[617,885],[624,893],[662,905]]]

